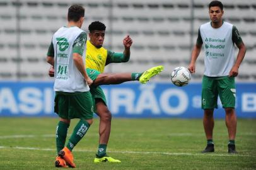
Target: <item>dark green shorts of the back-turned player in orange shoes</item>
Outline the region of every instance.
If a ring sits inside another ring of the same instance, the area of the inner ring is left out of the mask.
[[[93,118],[93,101],[90,91],[67,93],[56,91],[54,112],[61,118]]]

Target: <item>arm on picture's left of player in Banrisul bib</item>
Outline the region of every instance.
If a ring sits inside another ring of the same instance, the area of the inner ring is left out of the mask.
[[[189,71],[194,73],[195,72],[195,61],[197,60],[197,57],[199,56],[200,52],[201,52],[201,48],[202,48],[202,37],[201,37],[201,33],[200,33],[200,28],[198,31],[198,37],[197,37],[197,43],[195,44],[193,50],[192,50],[192,55],[191,55],[191,61],[189,64]]]

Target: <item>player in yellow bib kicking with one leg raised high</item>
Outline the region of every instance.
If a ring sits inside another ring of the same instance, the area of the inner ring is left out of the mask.
[[[120,84],[127,81],[139,81],[143,84],[151,77],[163,71],[163,66],[152,67],[144,72],[133,73],[103,73],[105,65],[111,63],[127,62],[130,59],[131,37],[127,36],[123,40],[124,52],[116,53],[102,47],[105,39],[106,26],[100,21],[95,21],[89,26],[90,40],[86,42],[86,71],[93,80],[90,91],[95,99],[95,113],[100,117],[99,145],[94,162],[120,162],[107,156],[107,144],[110,136],[112,115],[108,110],[105,94],[100,88],[102,84]],[[50,68],[50,76],[53,76],[54,69]]]

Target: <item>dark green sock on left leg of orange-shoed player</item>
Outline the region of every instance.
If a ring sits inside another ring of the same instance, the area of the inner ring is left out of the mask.
[[[69,128],[69,124],[60,121],[56,128],[56,147],[57,153],[64,148],[66,137],[67,137],[67,129]]]

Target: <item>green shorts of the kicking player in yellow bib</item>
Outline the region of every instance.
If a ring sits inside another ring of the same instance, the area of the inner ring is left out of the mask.
[[[88,76],[95,81],[96,77],[98,77],[98,75],[100,74],[99,71],[96,71],[94,69],[86,69],[86,72],[88,74]],[[93,97],[93,108],[95,109],[95,113],[96,113],[96,106],[95,106],[95,99],[102,99],[102,101],[105,103],[105,105],[107,106],[107,99],[105,97],[105,94],[102,90],[102,88],[100,88],[100,86],[90,86],[90,92],[91,92],[91,96]]]

